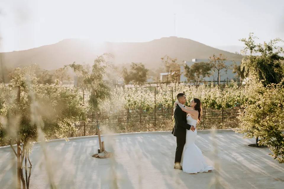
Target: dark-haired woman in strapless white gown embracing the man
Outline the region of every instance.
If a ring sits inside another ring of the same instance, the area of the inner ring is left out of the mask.
[[[196,124],[200,122],[201,117],[201,102],[198,98],[193,98],[190,101],[190,106],[184,106],[180,102],[176,101],[175,105],[179,105],[180,108],[188,113],[186,121],[189,125],[196,127]],[[197,131],[187,130],[185,137],[185,145],[183,147],[183,154],[181,156],[180,165],[183,168],[183,172],[186,173],[198,173],[208,172],[214,170],[213,166],[208,166],[202,155],[201,150],[194,144],[197,136]]]

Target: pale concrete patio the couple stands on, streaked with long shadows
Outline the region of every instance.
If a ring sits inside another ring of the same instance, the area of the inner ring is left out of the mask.
[[[98,149],[96,136],[79,137],[33,146],[30,189],[50,188],[50,183],[59,189],[284,188],[284,164],[272,159],[268,148],[249,147],[254,139],[233,131],[197,132],[196,145],[217,170],[174,170],[176,141],[170,132],[103,136],[106,150],[114,153],[109,159],[92,157]],[[15,188],[16,164],[12,150],[1,147],[0,188]]]

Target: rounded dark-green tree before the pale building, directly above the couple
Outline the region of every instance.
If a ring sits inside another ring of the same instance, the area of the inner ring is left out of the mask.
[[[185,77],[188,80],[193,80],[199,84],[199,81],[202,80],[206,76],[210,76],[212,65],[208,62],[196,62],[192,64],[190,67],[185,64]]]

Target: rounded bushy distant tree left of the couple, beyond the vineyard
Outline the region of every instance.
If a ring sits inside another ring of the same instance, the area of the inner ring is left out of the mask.
[[[126,68],[122,70],[122,76],[125,84],[134,82],[135,84],[143,85],[147,81],[148,69],[142,63],[131,63],[130,71]]]

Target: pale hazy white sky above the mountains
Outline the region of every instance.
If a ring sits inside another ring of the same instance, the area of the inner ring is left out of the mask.
[[[284,39],[284,0],[0,0],[1,52],[66,38],[144,42],[174,35],[210,46]]]

